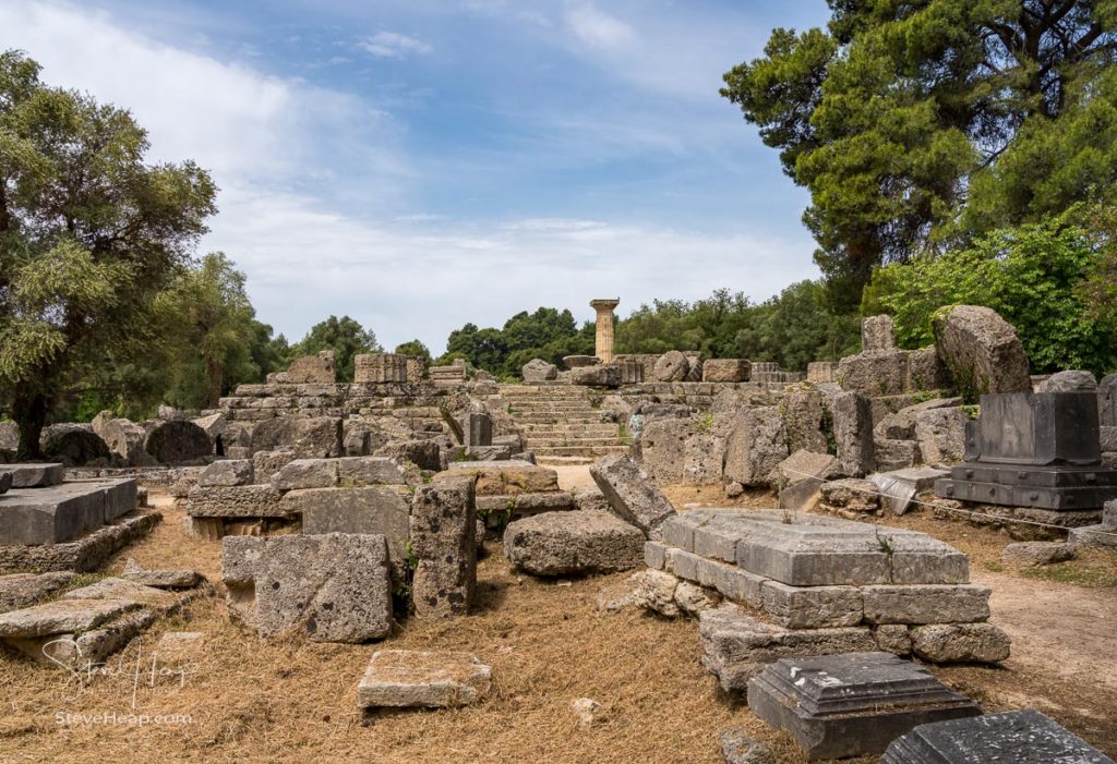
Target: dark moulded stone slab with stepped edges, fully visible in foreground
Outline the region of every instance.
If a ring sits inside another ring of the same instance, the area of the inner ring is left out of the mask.
[[[913,727],[981,709],[890,652],[782,658],[748,683],[748,707],[808,758],[881,753]]]

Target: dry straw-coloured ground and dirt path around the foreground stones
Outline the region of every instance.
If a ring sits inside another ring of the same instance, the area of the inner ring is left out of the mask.
[[[727,504],[693,487],[667,492],[679,506]],[[746,494],[731,504],[765,503],[771,496]],[[164,522],[109,572],[131,555],[150,567],[192,567],[219,582],[220,545],[188,540],[181,510],[164,501],[161,511]],[[970,553],[974,580],[993,589],[992,620],[1013,638],[1002,668],[933,670],[985,710],[1037,708],[1117,756],[1117,588],[1109,579],[1082,577],[1102,582],[1085,587],[1004,571],[1000,549],[1011,540],[985,528],[925,515],[889,524]],[[772,745],[780,762],[804,761],[790,738],[718,689],[698,663],[694,621],[598,611],[598,590],[624,574],[543,581],[512,570],[499,544],[489,551],[474,615],[410,620],[380,645],[264,642],[230,621],[218,596],[157,622],[109,661],[113,674],[92,680],[0,655],[0,761],[713,763],[722,761],[717,734],[729,726]],[[1117,555],[1076,564],[1114,572]],[[169,630],[202,631],[207,642],[184,676],[152,680],[151,651]],[[364,716],[356,685],[380,646],[470,651],[493,666],[493,693],[469,708]],[[588,729],[570,709],[580,697],[602,705]],[[130,714],[190,718],[140,725],[59,716],[114,713],[125,722]]]

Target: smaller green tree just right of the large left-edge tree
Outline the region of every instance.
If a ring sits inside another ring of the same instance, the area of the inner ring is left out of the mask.
[[[207,254],[187,270],[159,304],[176,350],[168,400],[216,408],[233,384],[260,378],[251,348],[261,325],[245,291],[245,274],[223,253]]]

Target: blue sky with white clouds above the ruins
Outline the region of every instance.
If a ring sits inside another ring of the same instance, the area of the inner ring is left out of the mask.
[[[821,0],[8,0],[0,48],[130,108],[221,192],[201,251],[297,339],[815,278],[806,194],[717,94]]]

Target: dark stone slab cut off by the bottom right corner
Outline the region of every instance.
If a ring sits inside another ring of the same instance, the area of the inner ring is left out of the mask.
[[[881,764],[1114,764],[1037,710],[924,724],[888,746]]]

